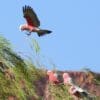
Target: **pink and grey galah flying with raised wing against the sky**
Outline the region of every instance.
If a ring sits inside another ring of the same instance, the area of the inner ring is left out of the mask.
[[[34,10],[30,6],[24,6],[23,7],[23,15],[24,18],[27,21],[27,24],[20,25],[20,29],[26,30],[29,33],[27,35],[31,35],[31,32],[36,32],[38,36],[43,36],[45,34],[49,34],[52,31],[50,30],[45,30],[45,29],[40,29],[40,21],[34,12]]]

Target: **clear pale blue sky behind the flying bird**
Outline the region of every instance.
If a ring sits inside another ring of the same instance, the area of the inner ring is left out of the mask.
[[[100,0],[1,0],[0,33],[17,51],[29,52],[25,32],[19,31],[19,25],[25,23],[24,5],[34,8],[41,28],[53,31],[32,37],[58,69],[80,70],[85,66],[100,72]]]

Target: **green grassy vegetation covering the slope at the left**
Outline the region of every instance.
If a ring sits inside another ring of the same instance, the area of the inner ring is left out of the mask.
[[[33,83],[41,78],[44,73],[39,73],[34,64],[22,59],[15,53],[9,43],[0,37],[0,100],[7,100],[9,96],[18,100],[27,100],[39,96],[35,92]]]

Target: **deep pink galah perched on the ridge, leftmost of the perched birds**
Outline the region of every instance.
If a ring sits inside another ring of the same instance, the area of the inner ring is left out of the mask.
[[[54,73],[53,71],[47,71],[47,75],[50,83],[59,83],[59,80],[57,79],[57,73]]]

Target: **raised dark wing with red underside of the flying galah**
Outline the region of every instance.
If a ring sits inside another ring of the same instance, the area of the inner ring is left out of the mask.
[[[40,26],[40,21],[36,13],[30,6],[23,7],[23,14],[24,14],[24,18],[26,19],[28,25],[35,26],[35,27]]]

